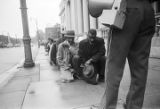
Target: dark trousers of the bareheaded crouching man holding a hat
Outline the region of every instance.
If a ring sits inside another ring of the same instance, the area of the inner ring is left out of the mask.
[[[82,59],[76,55],[72,58],[73,68],[74,70],[80,75],[82,75],[82,67],[81,64],[84,64],[82,62]],[[105,63],[106,63],[106,57],[102,56],[96,63],[93,63],[93,66],[95,68],[96,73],[100,75],[100,77],[104,77],[105,72]]]

